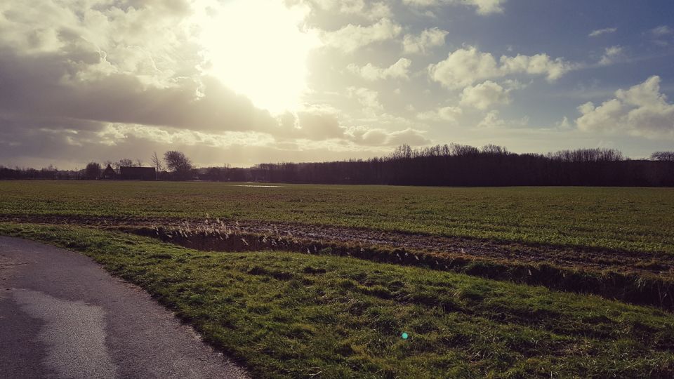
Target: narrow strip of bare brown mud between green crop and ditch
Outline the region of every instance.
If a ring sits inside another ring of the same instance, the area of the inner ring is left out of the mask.
[[[149,227],[161,225],[168,229],[199,225],[204,220],[138,217],[70,217],[70,216],[0,216],[0,221],[48,224],[92,225],[96,227]],[[220,222],[221,220],[218,220]],[[214,222],[211,220],[210,222]],[[225,221],[222,221],[225,222]],[[435,255],[468,257],[471,260],[496,260],[527,265],[554,265],[566,270],[591,272],[614,271],[639,277],[656,276],[674,280],[674,255],[668,253],[581,248],[547,244],[522,244],[463,237],[444,237],[369,230],[364,228],[304,225],[289,222],[239,221],[227,223],[241,233],[281,235],[310,241],[331,241],[338,244],[382,246]]]

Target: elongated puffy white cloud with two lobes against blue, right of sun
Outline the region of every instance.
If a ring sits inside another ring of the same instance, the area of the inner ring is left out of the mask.
[[[562,58],[547,54],[501,56],[496,60],[491,53],[482,53],[475,47],[460,48],[449,53],[447,59],[428,66],[430,78],[447,88],[464,88],[476,81],[506,77],[513,74],[543,75],[555,81],[574,69]]]

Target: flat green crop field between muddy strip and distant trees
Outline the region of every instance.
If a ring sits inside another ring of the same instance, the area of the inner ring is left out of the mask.
[[[0,182],[0,215],[213,218],[674,253],[674,189]]]

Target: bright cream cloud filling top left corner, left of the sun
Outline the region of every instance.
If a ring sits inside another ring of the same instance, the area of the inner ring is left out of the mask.
[[[69,74],[74,79],[133,74],[144,84],[171,86],[176,77],[198,72],[198,45],[187,27],[190,6],[186,1],[139,2],[136,6],[81,3],[4,4],[0,46],[22,56],[58,56],[70,62]],[[195,59],[176,51],[194,53]]]

